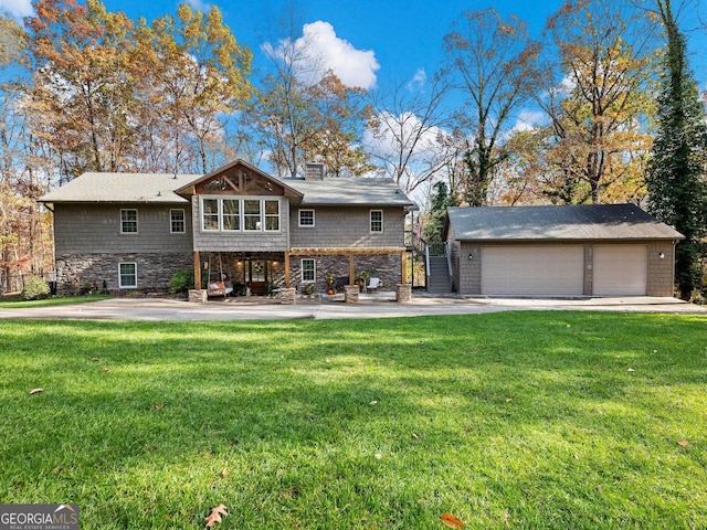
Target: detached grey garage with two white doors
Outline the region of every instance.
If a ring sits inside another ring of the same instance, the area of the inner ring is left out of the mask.
[[[673,296],[683,235],[634,204],[450,208],[462,295]]]

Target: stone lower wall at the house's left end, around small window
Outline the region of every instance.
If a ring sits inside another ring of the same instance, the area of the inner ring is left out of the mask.
[[[105,282],[108,292],[120,289],[118,265],[137,264],[137,290],[167,292],[177,271],[193,269],[191,253],[156,254],[64,254],[56,256],[56,286],[61,295],[74,295],[84,283],[95,283],[102,288]]]

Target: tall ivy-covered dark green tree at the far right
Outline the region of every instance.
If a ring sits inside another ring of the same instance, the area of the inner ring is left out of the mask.
[[[658,130],[646,177],[648,210],[680,232],[675,280],[683,299],[699,287],[700,240],[707,233],[707,125],[705,106],[689,71],[686,40],[671,0],[656,0],[667,38],[658,96]]]

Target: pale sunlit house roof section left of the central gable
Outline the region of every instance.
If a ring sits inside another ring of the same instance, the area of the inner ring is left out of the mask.
[[[198,174],[89,172],[44,194],[40,202],[188,202],[175,190],[197,178]]]

